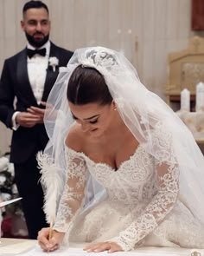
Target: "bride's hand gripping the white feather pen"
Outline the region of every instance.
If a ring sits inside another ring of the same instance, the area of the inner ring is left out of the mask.
[[[51,252],[58,249],[61,245],[65,233],[52,231],[52,238],[49,240],[49,227],[42,228],[38,233],[38,243],[41,249],[46,252]]]

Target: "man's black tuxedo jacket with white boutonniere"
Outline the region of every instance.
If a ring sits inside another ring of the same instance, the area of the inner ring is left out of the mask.
[[[48,66],[42,102],[48,99],[49,92],[59,74],[59,67],[66,67],[72,55],[73,52],[51,43],[49,56],[58,58],[59,66],[55,71]],[[3,121],[8,128],[12,128],[14,112],[26,112],[30,106],[39,107],[29,83],[27,52],[23,49],[5,60],[3,64],[0,81],[0,121]],[[33,128],[19,127],[12,135],[10,161],[16,164],[23,163],[32,154],[43,150],[47,143],[48,135],[43,124],[36,124]]]

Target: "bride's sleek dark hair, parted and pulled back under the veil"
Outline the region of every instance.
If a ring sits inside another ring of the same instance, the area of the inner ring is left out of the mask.
[[[98,70],[78,66],[73,70],[67,86],[67,100],[73,104],[111,104],[112,95]]]

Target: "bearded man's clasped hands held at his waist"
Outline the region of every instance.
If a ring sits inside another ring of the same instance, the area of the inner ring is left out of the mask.
[[[26,128],[32,128],[37,123],[41,123],[41,116],[27,112],[20,112],[16,115],[16,122]]]

